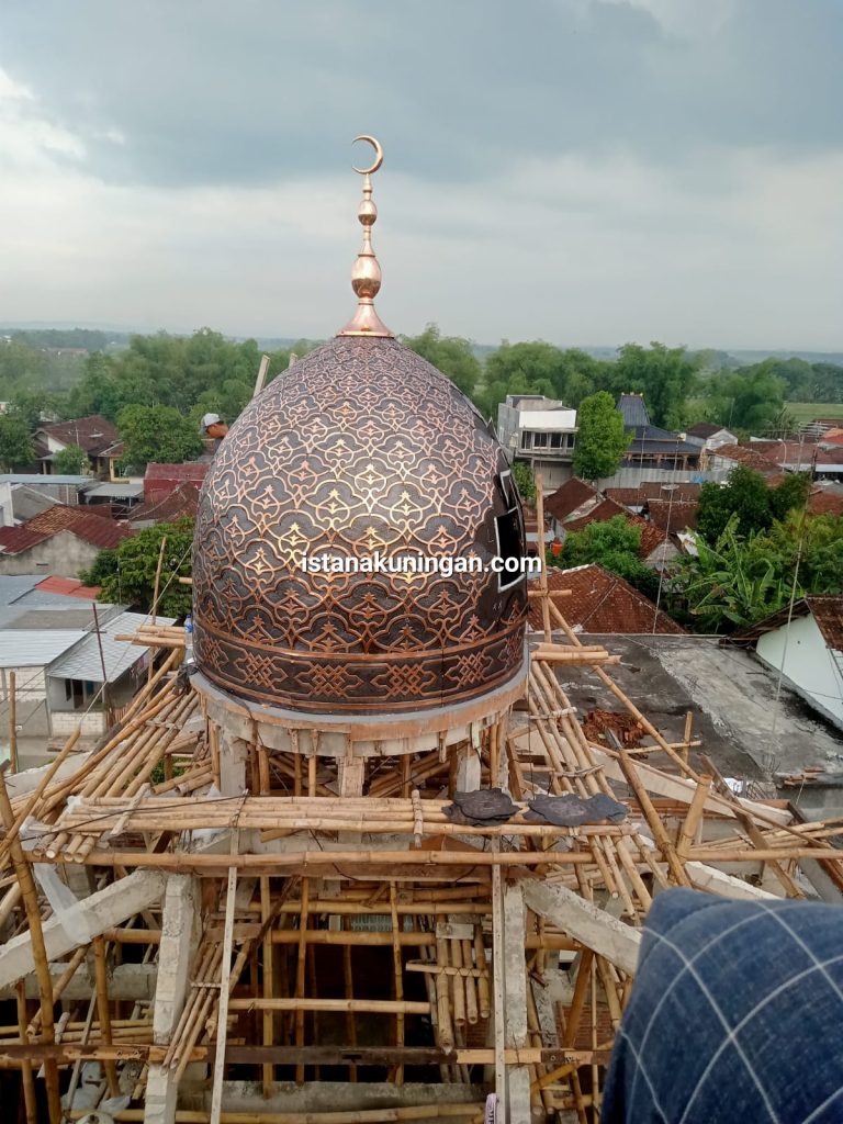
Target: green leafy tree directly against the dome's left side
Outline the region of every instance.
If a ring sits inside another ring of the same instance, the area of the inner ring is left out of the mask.
[[[182,586],[176,578],[189,578],[192,573],[192,519],[160,523],[124,540],[116,550],[100,551],[93,565],[80,573],[80,579],[87,586],[102,587],[98,595],[100,601],[129,605],[140,613],[148,613],[164,536],[166,545],[161,568],[158,613],[165,617],[187,615],[191,607],[191,588]]]

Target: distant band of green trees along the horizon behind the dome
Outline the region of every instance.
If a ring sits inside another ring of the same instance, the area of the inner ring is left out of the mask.
[[[611,357],[544,341],[481,348],[443,336],[436,325],[404,342],[490,417],[511,393],[541,393],[579,407],[597,391],[637,392],[655,425],[681,430],[707,420],[738,435],[761,435],[795,428],[789,401],[843,401],[843,365],[800,357],[769,356],[747,365],[726,352],[658,342],[625,344]],[[315,346],[299,341],[273,350],[270,379],[287,369],[291,352],[301,356]],[[87,328],[16,332],[0,344],[0,398],[22,396],[28,417],[37,416],[39,398],[44,414],[54,417],[102,414],[117,422],[125,407],[139,405],[171,407],[191,419],[212,410],[232,422],[253,393],[262,350],[254,339],[234,341],[209,328],[128,339]]]

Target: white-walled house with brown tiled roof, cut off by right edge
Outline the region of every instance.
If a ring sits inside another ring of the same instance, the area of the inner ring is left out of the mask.
[[[754,649],[786,687],[843,729],[843,597],[804,597],[734,633],[731,643]]]

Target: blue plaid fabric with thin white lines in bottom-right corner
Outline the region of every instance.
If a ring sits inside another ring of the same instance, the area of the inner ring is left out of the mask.
[[[843,908],[660,894],[600,1120],[843,1122]]]

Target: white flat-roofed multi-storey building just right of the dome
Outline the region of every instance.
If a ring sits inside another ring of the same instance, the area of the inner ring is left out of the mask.
[[[510,461],[541,473],[546,489],[571,477],[577,410],[543,395],[507,395],[498,406],[498,437]]]

